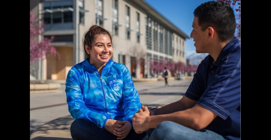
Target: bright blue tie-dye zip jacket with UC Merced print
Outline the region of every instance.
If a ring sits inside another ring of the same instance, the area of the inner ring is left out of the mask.
[[[74,65],[67,75],[65,91],[72,117],[88,119],[101,128],[107,119],[132,124],[141,103],[128,68],[110,59],[100,76],[88,60]]]

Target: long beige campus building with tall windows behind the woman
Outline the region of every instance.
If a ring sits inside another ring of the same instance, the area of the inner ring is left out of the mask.
[[[32,64],[42,80],[65,79],[69,69],[85,59],[82,37],[92,25],[112,32],[113,61],[135,71],[137,78],[148,74],[149,60],[186,63],[188,35],[144,0],[30,0],[30,12],[46,23],[42,37],[54,36],[52,44],[61,56]],[[139,63],[137,54],[131,55],[134,49],[145,53]]]

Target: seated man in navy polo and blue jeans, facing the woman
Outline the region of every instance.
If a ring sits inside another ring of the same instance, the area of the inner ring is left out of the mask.
[[[183,98],[133,116],[136,133],[150,140],[240,139],[240,44],[229,4],[205,2],[194,11],[191,38],[197,53],[208,53]],[[152,129],[155,128],[155,129]]]

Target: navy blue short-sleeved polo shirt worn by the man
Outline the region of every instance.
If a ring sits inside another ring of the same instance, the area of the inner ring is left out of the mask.
[[[218,116],[205,129],[226,139],[240,139],[241,50],[235,37],[216,62],[208,55],[197,68],[185,96]]]

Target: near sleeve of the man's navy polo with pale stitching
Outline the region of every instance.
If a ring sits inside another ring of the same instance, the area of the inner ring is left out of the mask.
[[[212,111],[222,119],[227,119],[240,106],[240,54],[230,54],[209,86],[197,102],[198,105]]]

